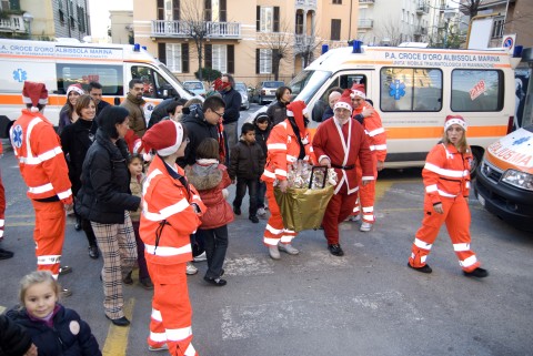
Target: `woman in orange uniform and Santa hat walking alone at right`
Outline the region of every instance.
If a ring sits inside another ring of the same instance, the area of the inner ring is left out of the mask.
[[[449,115],[444,122],[442,142],[425,160],[422,177],[425,186],[424,218],[415,234],[409,266],[431,273],[426,264],[433,242],[446,224],[459,265],[465,276],[486,277],[489,273],[470,248],[470,161],[472,151],[466,143],[466,122],[460,115]]]

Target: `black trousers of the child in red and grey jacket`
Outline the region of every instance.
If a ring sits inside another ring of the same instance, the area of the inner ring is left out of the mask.
[[[222,273],[225,251],[228,250],[228,225],[209,230],[199,228],[197,231],[198,235],[203,240],[205,256],[208,257],[205,277],[218,278]]]

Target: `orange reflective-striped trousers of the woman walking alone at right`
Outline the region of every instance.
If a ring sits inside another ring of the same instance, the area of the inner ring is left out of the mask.
[[[472,272],[480,266],[480,262],[474,252],[470,248],[471,218],[469,204],[462,195],[454,199],[441,196],[441,200],[444,213],[438,214],[433,210],[431,200],[428,195],[425,196],[424,218],[422,220],[422,226],[415,234],[409,263],[418,268],[425,265],[425,260],[431,252],[433,242],[435,241],[442,224],[445,223],[460,266],[465,272]]]

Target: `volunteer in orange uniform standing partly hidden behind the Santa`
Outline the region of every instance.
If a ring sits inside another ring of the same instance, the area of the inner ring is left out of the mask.
[[[375,222],[374,215],[374,199],[375,199],[375,181],[378,180],[378,171],[383,170],[386,157],[386,135],[385,130],[381,123],[380,114],[374,111],[372,105],[365,101],[366,93],[363,84],[353,84],[352,93],[353,118],[358,120],[364,128],[366,140],[369,141],[370,151],[372,151],[372,165],[374,176],[369,184],[362,183],[361,165],[358,163],[356,173],[359,182],[359,201],[353,208],[354,215],[360,213],[360,205],[363,210],[363,223],[361,231],[372,230]]]

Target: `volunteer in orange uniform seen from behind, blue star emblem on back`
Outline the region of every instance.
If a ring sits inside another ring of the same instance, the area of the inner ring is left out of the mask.
[[[64,208],[72,205],[69,169],[59,136],[41,113],[48,103],[44,84],[24,82],[22,100],[28,109],[22,110],[22,115],[10,130],[11,144],[28,185],[28,197],[36,210],[37,269],[50,271],[58,278],[64,240]]]

